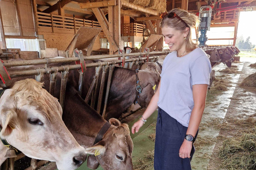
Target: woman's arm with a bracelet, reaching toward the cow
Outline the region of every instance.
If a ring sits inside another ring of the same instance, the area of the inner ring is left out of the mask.
[[[157,102],[159,99],[160,86],[161,86],[161,80],[159,81],[155,95],[151,98],[146,111],[142,115],[143,118],[145,118],[145,120],[147,120],[147,118],[149,116],[151,116],[151,114],[153,114],[155,112],[155,110],[157,109]],[[132,134],[134,134],[134,132],[139,132],[142,125],[143,125],[143,122],[141,120],[135,122],[132,126]]]

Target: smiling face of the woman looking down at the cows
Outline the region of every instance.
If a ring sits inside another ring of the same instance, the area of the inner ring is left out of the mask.
[[[175,50],[185,50],[186,43],[184,37],[187,36],[186,31],[175,30],[171,27],[163,27],[162,35],[164,36],[165,44],[169,46],[171,52]]]

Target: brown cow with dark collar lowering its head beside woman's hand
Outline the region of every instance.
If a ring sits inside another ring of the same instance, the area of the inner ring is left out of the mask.
[[[29,67],[36,68],[38,66],[26,66],[27,69]],[[22,67],[18,68],[23,70]],[[8,68],[7,70],[17,70],[17,68]],[[94,70],[95,72],[94,68],[91,68],[91,70]],[[90,73],[90,69],[87,69],[87,71],[88,72],[86,73]],[[98,149],[100,155],[96,156],[96,158],[103,169],[133,169],[131,160],[133,144],[130,137],[130,131],[127,128],[127,124],[118,125],[118,120],[109,120],[110,123],[115,124],[117,127],[111,125],[107,133],[103,135],[102,140],[93,146],[95,137],[97,136],[103,124],[106,123],[106,121],[103,120],[103,118],[94,109],[87,105],[81,96],[78,95],[76,91],[78,87],[78,77],[79,73],[77,70],[69,71],[64,104],[65,108],[63,109],[62,115],[63,121],[65,122],[70,132],[74,135],[78,143],[88,149],[87,151],[89,153],[92,153],[92,150],[96,150],[94,148]],[[14,78],[12,79],[12,83],[25,78],[27,77]],[[87,77],[85,76],[84,82],[86,82],[86,78]],[[45,74],[45,89],[48,91],[50,84],[49,80],[49,74]],[[59,97],[60,95],[60,83],[61,76],[58,74],[55,84],[55,97]],[[86,90],[86,88],[84,88],[84,90]],[[89,117],[92,118],[90,119]],[[103,149],[99,150],[99,147]],[[115,150],[116,152],[111,152],[111,150]]]

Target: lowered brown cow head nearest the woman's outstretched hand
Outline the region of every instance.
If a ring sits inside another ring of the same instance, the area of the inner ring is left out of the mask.
[[[90,162],[91,167],[97,168],[98,163],[105,170],[132,170],[133,143],[127,124],[121,124],[116,118],[110,118],[112,124],[102,140],[86,151],[96,157],[98,162]],[[94,164],[94,165],[92,165]],[[95,166],[95,164],[97,166]]]

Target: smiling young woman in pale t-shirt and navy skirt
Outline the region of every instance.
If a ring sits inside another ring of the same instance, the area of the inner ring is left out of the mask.
[[[193,143],[204,112],[211,64],[191,40],[196,15],[173,9],[161,17],[164,41],[172,53],[165,57],[156,94],[133,124],[132,133],[138,132],[158,107],[154,168],[187,170],[195,152]]]

